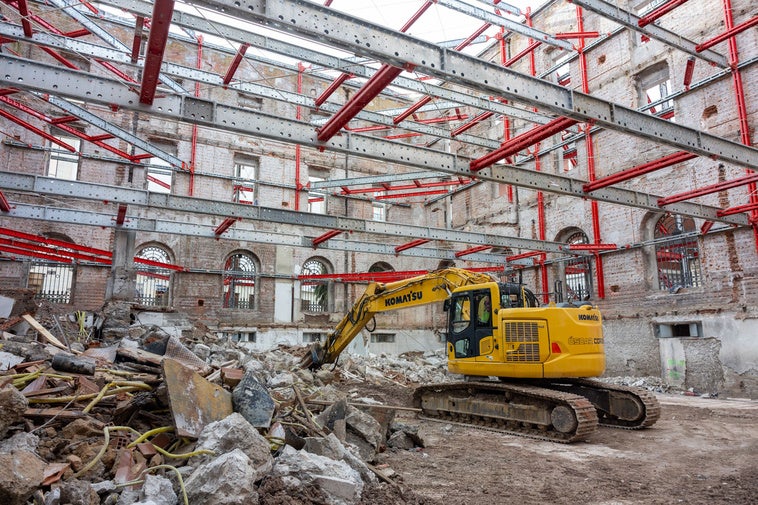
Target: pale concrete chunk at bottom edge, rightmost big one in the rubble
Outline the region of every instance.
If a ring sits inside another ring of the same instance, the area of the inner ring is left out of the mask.
[[[363,492],[360,473],[344,461],[289,446],[276,459],[272,475],[281,477],[288,486],[316,484],[328,495],[329,503],[337,505],[358,503]]]

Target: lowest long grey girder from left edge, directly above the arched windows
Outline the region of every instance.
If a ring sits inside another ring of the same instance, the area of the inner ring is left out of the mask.
[[[66,223],[80,226],[97,226],[101,228],[120,228],[144,233],[160,233],[169,235],[185,235],[192,237],[204,237],[219,240],[237,240],[254,242],[259,244],[285,245],[292,247],[311,248],[314,237],[305,237],[297,233],[265,232],[246,227],[244,221],[240,221],[233,229],[229,229],[221,236],[214,232],[217,224],[212,223],[185,223],[177,220],[159,220],[145,217],[129,216],[122,225],[116,224],[112,213],[88,212],[70,208],[49,207],[15,203],[9,213],[0,215],[0,218],[33,219],[46,222]],[[395,254],[395,247],[387,243],[375,243],[367,241],[348,241],[332,238],[328,242],[319,244],[319,249],[335,251],[354,251],[391,256]],[[568,246],[565,246],[566,249]],[[567,249],[568,250],[568,249]],[[419,258],[435,258],[455,260],[455,251],[439,247],[418,247],[403,252],[404,256]],[[466,258],[467,261],[480,261],[502,265],[505,257],[501,254],[479,253]],[[188,265],[190,268],[193,265]]]

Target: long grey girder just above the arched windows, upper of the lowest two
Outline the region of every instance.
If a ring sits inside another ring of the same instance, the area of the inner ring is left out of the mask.
[[[326,228],[396,237],[425,238],[428,240],[461,242],[465,244],[486,244],[491,246],[510,247],[512,249],[529,249],[555,253],[561,253],[568,250],[565,244],[559,242],[463,232],[448,228],[430,228],[426,226],[413,226],[380,221],[364,221],[361,219],[311,214],[308,212],[296,212],[233,202],[219,202],[217,200],[205,200],[165,193],[151,193],[139,189],[92,184],[81,181],[68,181],[52,177],[15,174],[11,172],[0,172],[0,190],[3,189],[7,191],[32,192],[91,201],[105,200],[114,204],[127,204],[130,209],[144,207],[160,209],[163,212],[171,211],[240,218],[243,223],[245,221],[265,221],[285,225],[306,226],[310,228]],[[127,222],[123,225],[125,228],[129,227],[129,219],[127,219]],[[213,230],[211,230],[209,236],[215,236]],[[392,254],[394,254],[394,250],[392,251]]]

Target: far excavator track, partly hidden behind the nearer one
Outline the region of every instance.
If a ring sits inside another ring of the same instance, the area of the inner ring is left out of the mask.
[[[560,379],[544,387],[583,396],[597,409],[601,426],[640,430],[652,426],[661,415],[661,405],[646,389],[616,386],[591,379]]]

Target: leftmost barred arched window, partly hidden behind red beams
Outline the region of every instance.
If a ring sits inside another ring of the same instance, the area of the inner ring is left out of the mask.
[[[73,241],[65,235],[45,233],[44,236],[73,244]],[[66,247],[58,246],[57,250],[61,256],[67,256]],[[73,249],[70,251],[74,252]],[[39,300],[47,300],[52,303],[71,303],[74,276],[75,266],[73,263],[35,259],[29,264],[26,286],[35,291],[34,297]]]

